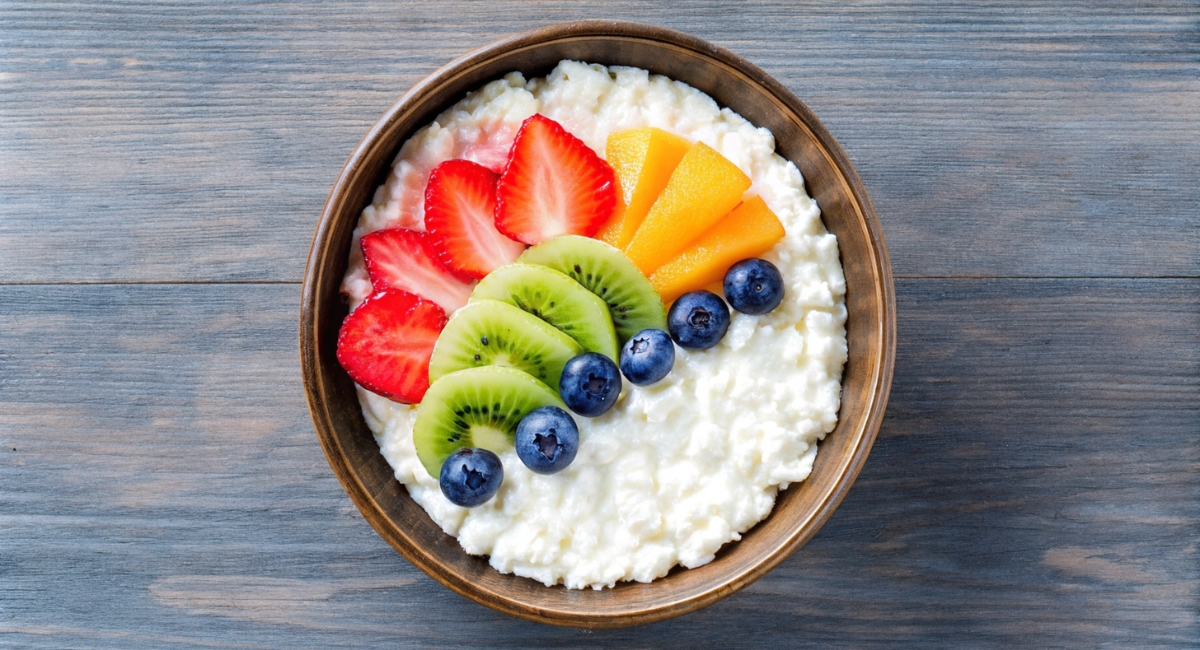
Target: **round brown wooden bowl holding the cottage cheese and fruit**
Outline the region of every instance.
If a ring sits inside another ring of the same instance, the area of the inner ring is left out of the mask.
[[[688,83],[774,133],[776,151],[804,174],[826,227],[838,236],[846,275],[850,357],[838,428],[820,445],[812,475],[781,492],[767,519],[716,559],[676,567],[649,584],[547,588],[491,568],[442,532],[392,475],[367,429],[354,385],[335,357],[346,317],[338,285],[350,235],[400,145],[468,91],[511,71],[545,76],[563,59],[637,66]],[[763,71],[704,41],[650,25],[589,20],[504,38],[416,84],[359,144],[317,225],[304,282],[300,357],[317,437],[330,467],[367,522],[442,584],[505,614],[553,625],[616,627],[658,621],[710,604],[762,577],[829,518],[866,461],[887,407],[895,357],[895,295],[883,234],[862,181],[816,115]]]

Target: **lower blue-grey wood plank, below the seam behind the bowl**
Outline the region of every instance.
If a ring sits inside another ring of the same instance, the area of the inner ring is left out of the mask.
[[[325,464],[295,285],[0,287],[0,645],[1194,646],[1200,282],[901,281],[888,417],[762,580],[673,621],[510,620]]]

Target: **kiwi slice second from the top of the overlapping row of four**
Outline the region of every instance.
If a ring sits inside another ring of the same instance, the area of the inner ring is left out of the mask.
[[[469,302],[499,300],[558,327],[584,350],[617,362],[617,332],[608,306],[570,277],[546,266],[509,264],[487,273]],[[557,385],[557,384],[556,384]]]

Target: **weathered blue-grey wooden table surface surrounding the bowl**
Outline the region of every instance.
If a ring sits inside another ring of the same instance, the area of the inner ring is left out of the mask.
[[[391,550],[300,386],[313,225],[426,73],[624,18],[758,64],[878,210],[887,420],[696,614],[510,620]],[[1200,5],[0,4],[0,645],[1200,644]]]

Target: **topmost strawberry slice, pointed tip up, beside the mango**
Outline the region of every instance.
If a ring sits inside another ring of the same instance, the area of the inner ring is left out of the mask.
[[[608,163],[562,125],[534,115],[521,125],[496,189],[496,227],[526,243],[592,236],[617,209]]]

